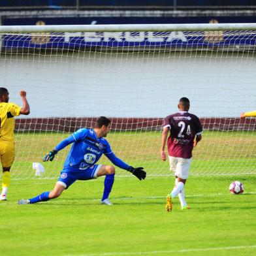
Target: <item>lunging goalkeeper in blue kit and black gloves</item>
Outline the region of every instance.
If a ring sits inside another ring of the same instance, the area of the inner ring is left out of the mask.
[[[111,121],[104,116],[101,116],[95,124],[94,129],[82,128],[73,133],[57,144],[56,148],[49,152],[43,161],[53,161],[55,155],[63,150],[69,144],[72,144],[69,155],[64,163],[61,175],[52,191],[46,191],[37,197],[31,199],[20,199],[18,204],[35,204],[36,202],[45,202],[50,199],[55,199],[61,195],[64,189],[67,189],[76,180],[91,180],[100,176],[106,176],[104,180],[104,192],[101,199],[102,204],[111,205],[112,202],[108,196],[114,184],[115,167],[111,165],[97,165],[97,161],[101,155],[106,155],[110,161],[124,170],[131,172],[139,180],[146,178],[146,172],[143,167],[134,168],[127,163],[124,163],[114,155],[104,139],[110,131]]]

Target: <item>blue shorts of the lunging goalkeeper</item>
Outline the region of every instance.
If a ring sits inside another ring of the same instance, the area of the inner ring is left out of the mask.
[[[67,189],[76,180],[91,180],[97,178],[97,172],[101,165],[92,165],[86,170],[74,170],[71,168],[64,168],[57,180],[57,184],[63,185]]]

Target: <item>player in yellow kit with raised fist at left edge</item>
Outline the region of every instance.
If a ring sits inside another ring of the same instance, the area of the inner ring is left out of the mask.
[[[23,104],[21,108],[14,103],[8,103],[8,90],[0,88],[0,158],[3,167],[0,200],[7,200],[7,189],[10,186],[10,167],[14,160],[14,116],[28,115],[30,112],[26,95],[25,91],[20,91]]]

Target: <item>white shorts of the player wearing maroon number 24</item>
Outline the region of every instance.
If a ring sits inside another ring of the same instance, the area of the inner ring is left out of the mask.
[[[189,176],[189,169],[191,165],[192,158],[182,158],[182,157],[170,157],[170,170],[175,172],[175,176],[183,180],[187,180]]]

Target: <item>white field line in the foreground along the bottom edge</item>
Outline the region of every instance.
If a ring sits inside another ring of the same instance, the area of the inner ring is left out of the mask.
[[[195,248],[195,249],[180,249],[180,250],[169,250],[169,251],[136,251],[136,252],[112,252],[112,253],[89,253],[89,254],[79,254],[77,256],[114,256],[114,255],[163,255],[167,253],[188,253],[191,251],[223,251],[223,250],[233,250],[233,249],[256,249],[256,244],[251,246],[228,246],[228,247],[210,247],[210,248]]]

